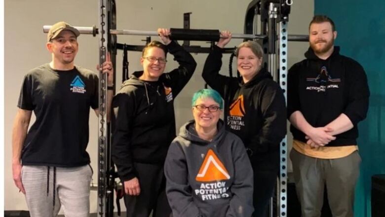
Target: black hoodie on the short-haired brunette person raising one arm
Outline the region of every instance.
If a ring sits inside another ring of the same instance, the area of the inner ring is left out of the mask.
[[[179,63],[177,69],[156,82],[139,80],[143,71],[134,72],[113,99],[112,157],[122,181],[137,176],[134,162],[163,164],[176,136],[174,99],[192,77],[196,62],[176,42],[167,48]]]

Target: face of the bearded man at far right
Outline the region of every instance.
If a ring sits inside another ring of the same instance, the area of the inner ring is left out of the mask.
[[[315,54],[330,52],[334,46],[337,32],[329,22],[312,23],[309,28],[309,44]]]

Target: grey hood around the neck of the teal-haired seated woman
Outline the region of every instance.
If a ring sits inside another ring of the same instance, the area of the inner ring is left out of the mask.
[[[195,130],[195,121],[191,120],[181,127],[181,129],[179,131],[179,135],[182,138],[189,140],[192,143],[199,144],[199,145],[205,145],[209,142],[215,142],[217,144],[220,144],[219,141],[225,135],[225,124],[221,119],[219,119],[219,121],[217,123],[217,130],[218,130],[217,134],[214,136],[212,141],[204,140],[198,136],[198,133]]]

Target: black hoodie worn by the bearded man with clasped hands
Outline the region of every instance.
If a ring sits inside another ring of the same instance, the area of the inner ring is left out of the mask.
[[[327,146],[356,145],[358,122],[366,117],[369,87],[362,66],[340,55],[340,47],[326,59],[318,58],[309,47],[305,60],[294,64],[288,73],[288,118],[300,111],[312,127],[324,127],[344,113],[353,128],[336,135]],[[306,142],[305,134],[290,126],[294,139]]]

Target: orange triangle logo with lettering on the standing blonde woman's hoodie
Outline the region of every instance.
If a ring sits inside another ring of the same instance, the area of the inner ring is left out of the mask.
[[[229,116],[227,117],[227,125],[231,130],[241,130],[241,127],[245,126],[243,117],[245,116],[246,112],[243,101],[243,95],[240,95],[230,105]]]

